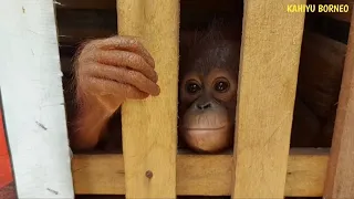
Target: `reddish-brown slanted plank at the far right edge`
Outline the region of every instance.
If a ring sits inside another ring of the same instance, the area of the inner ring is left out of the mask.
[[[354,14],[352,15],[352,20]],[[351,25],[324,198],[354,198],[354,23]]]

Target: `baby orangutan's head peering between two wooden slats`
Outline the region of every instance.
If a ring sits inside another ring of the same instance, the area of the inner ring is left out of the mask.
[[[217,153],[233,143],[239,48],[210,31],[181,57],[179,136],[197,151]]]

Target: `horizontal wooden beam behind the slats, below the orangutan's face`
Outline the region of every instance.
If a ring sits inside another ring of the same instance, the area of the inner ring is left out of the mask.
[[[329,149],[291,149],[285,196],[321,197]],[[77,195],[124,195],[122,155],[75,155],[72,163]],[[229,196],[232,155],[178,155],[177,195]]]

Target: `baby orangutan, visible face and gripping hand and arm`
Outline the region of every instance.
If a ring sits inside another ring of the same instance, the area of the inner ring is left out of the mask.
[[[179,137],[192,149],[220,151],[233,143],[239,44],[208,31],[181,57]],[[154,66],[134,38],[83,45],[75,64],[79,114],[70,135],[74,150],[92,149],[104,140],[105,148],[122,146],[117,109],[125,100],[159,94]]]

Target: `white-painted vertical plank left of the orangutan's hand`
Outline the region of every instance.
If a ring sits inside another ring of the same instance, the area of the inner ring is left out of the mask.
[[[0,30],[1,98],[17,198],[73,199],[53,1],[1,1]]]

